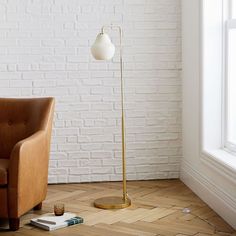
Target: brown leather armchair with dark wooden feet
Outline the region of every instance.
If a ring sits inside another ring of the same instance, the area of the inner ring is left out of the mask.
[[[53,98],[0,98],[0,218],[11,230],[47,193]]]

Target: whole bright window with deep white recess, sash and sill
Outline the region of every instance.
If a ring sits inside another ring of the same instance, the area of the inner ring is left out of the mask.
[[[234,176],[236,0],[201,2],[201,160]]]

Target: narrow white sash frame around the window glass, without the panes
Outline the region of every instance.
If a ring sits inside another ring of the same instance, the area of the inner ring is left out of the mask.
[[[224,38],[223,38],[223,56],[224,56],[224,78],[223,78],[223,99],[224,99],[224,107],[222,108],[222,131],[223,131],[223,149],[226,151],[231,152],[232,154],[236,155],[236,145],[231,143],[228,140],[228,35],[230,29],[236,29],[236,18],[232,18],[232,0],[225,1],[224,4],[224,12],[225,12],[225,27],[224,27]]]

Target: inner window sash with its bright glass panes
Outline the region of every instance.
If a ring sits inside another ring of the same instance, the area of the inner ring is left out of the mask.
[[[229,0],[225,37],[225,143],[236,152],[236,0]]]

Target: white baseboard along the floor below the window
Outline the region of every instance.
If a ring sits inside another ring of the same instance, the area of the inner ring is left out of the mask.
[[[183,162],[180,179],[217,214],[236,229],[236,200]]]

